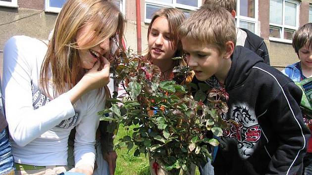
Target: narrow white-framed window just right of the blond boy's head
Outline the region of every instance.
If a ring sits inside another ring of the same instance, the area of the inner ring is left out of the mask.
[[[236,26],[258,33],[258,0],[237,0]]]

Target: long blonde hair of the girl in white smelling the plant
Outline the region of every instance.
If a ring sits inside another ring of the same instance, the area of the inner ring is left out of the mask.
[[[86,70],[80,65],[79,49],[94,47],[109,38],[116,40],[119,48],[124,50],[121,43],[124,21],[119,9],[107,0],[67,0],[57,16],[53,36],[41,67],[40,84],[48,95],[50,96],[50,74],[53,95],[62,94],[67,88],[72,88],[85,74]],[[82,37],[91,40],[78,47],[75,39],[77,31],[84,25],[91,25],[90,22],[93,26]]]

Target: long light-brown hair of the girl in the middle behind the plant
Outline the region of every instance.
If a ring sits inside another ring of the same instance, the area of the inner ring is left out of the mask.
[[[173,49],[176,49],[173,57],[182,56],[183,54],[183,48],[182,48],[182,42],[178,34],[178,28],[182,24],[182,22],[186,19],[184,13],[177,9],[177,8],[161,8],[157,10],[152,18],[152,21],[149,25],[148,29],[148,40],[150,38],[150,33],[152,29],[152,25],[156,18],[164,16],[168,21],[168,27],[170,31],[170,44]],[[147,59],[151,60],[151,53],[149,48],[147,48],[143,53]],[[184,66],[186,65],[186,62],[184,59],[178,59],[174,60],[175,66]]]

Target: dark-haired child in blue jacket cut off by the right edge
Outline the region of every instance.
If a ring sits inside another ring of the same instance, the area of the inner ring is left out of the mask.
[[[292,45],[298,55],[299,62],[286,66],[282,73],[294,82],[301,82],[312,77],[312,23],[300,27],[293,35]],[[312,120],[303,112],[306,125],[312,131]],[[302,175],[312,175],[312,138],[308,143],[307,154],[304,157]]]

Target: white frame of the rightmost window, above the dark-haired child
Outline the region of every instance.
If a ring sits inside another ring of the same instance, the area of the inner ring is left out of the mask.
[[[296,26],[285,25],[285,2],[295,3],[296,6]],[[284,39],[284,31],[285,29],[290,29],[296,31],[299,28],[299,14],[300,14],[300,1],[296,0],[283,0],[283,11],[282,11],[282,24],[275,24],[269,21],[269,28],[280,28],[281,38],[269,37],[270,41],[281,42],[281,43],[292,43],[292,40]]]

